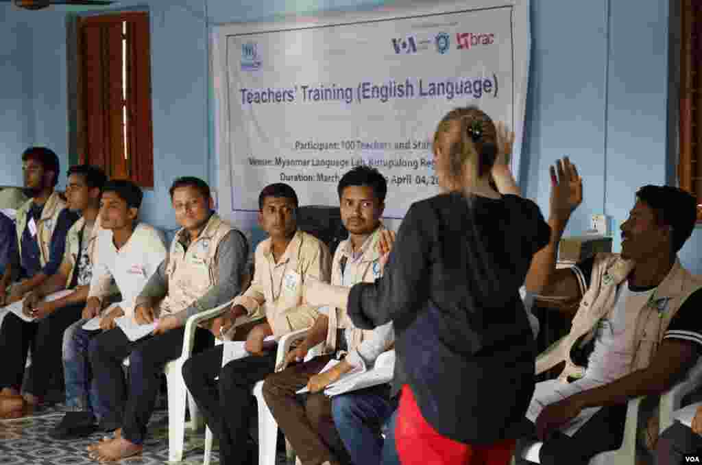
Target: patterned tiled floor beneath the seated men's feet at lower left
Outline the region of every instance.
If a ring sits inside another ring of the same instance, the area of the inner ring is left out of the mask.
[[[69,441],[53,440],[48,437],[48,431],[51,431],[62,417],[62,409],[57,407],[26,419],[0,420],[0,465],[95,464],[96,462],[88,457],[86,447],[100,440],[100,433],[89,438]],[[173,462],[168,461],[168,421],[165,410],[154,413],[149,424],[149,433],[143,454],[117,463],[172,464]],[[178,463],[202,464],[204,437],[204,433],[188,433],[185,438],[183,461]],[[280,456],[278,463],[285,464],[284,454]],[[216,451],[213,451],[211,464],[219,464]]]

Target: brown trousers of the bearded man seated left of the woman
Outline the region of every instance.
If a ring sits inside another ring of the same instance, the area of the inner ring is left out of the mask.
[[[332,355],[322,355],[292,365],[270,374],[263,384],[268,408],[304,465],[351,461],[334,426],[331,399],[324,393],[296,394],[331,358]]]

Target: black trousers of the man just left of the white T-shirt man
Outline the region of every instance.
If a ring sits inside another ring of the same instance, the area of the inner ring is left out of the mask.
[[[0,388],[22,387],[27,364],[27,351],[32,349],[32,365],[25,391],[37,397],[46,395],[52,376],[61,375],[63,332],[81,317],[84,305],[65,306],[39,322],[25,322],[8,313],[0,328]]]

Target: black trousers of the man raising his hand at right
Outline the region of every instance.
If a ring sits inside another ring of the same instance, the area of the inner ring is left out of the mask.
[[[541,447],[541,465],[588,465],[590,459],[600,452],[618,449],[624,438],[625,420],[626,404],[602,407],[572,437],[556,431]],[[527,436],[536,438],[534,424],[526,419],[524,423],[531,430]],[[517,459],[519,465],[529,463]]]

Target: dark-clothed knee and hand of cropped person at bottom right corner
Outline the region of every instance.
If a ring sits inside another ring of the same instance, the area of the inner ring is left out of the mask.
[[[701,395],[702,392],[698,391],[690,397],[699,400]],[[702,460],[702,402],[695,400],[688,407],[695,409],[691,424],[687,426],[675,421],[658,437],[656,465],[700,463]]]

